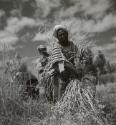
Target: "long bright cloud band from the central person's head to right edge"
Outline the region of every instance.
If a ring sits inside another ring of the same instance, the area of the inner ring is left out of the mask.
[[[116,15],[108,14],[103,17],[103,19],[93,20],[93,19],[81,19],[81,18],[69,18],[57,22],[57,24],[63,24],[69,27],[69,31],[72,34],[84,31],[87,33],[100,33],[116,27]]]

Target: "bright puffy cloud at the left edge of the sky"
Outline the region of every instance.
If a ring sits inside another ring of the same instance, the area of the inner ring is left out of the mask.
[[[32,18],[27,18],[27,17],[23,17],[21,19],[17,17],[8,18],[7,26],[5,27],[4,30],[0,31],[0,46],[5,44],[8,46],[8,50],[14,50],[15,48],[13,47],[13,45],[15,45],[19,40],[17,33],[20,30],[22,30],[25,26],[33,27],[35,25],[38,25],[38,23],[36,23],[36,21]]]

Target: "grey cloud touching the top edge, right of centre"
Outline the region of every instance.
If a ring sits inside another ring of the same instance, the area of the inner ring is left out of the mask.
[[[60,11],[61,17],[73,17],[76,13],[101,19],[112,6],[109,0],[71,0],[72,6]]]

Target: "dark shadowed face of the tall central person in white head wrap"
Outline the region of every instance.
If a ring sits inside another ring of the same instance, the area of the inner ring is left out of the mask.
[[[68,33],[62,29],[58,30],[58,40],[61,44],[67,45],[68,44]]]

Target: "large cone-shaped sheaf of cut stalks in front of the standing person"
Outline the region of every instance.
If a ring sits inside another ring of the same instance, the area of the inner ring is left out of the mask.
[[[56,119],[69,117],[70,123],[78,125],[105,125],[97,102],[93,100],[89,90],[82,87],[82,82],[74,80],[67,86],[60,101],[52,107]]]

